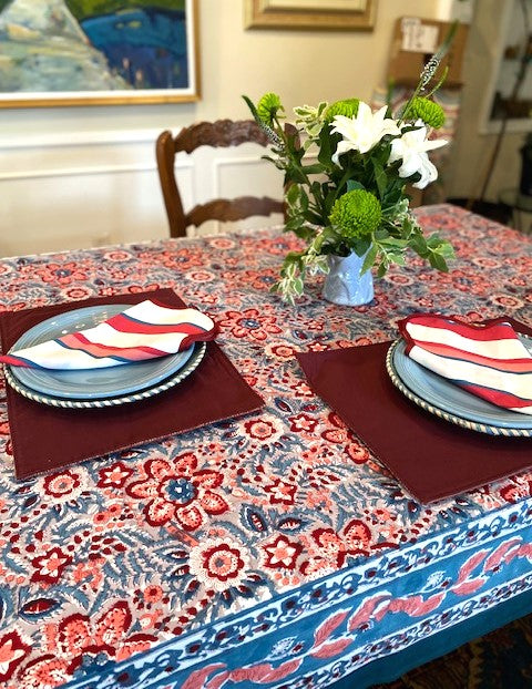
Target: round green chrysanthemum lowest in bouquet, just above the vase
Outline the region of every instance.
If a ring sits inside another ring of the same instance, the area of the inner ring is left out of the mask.
[[[379,199],[365,189],[354,189],[340,196],[332,206],[329,222],[348,239],[370,235],[380,225],[382,210]]]

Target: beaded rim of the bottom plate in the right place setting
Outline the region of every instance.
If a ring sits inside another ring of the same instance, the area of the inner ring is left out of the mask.
[[[525,337],[526,339],[531,339],[531,338],[528,338],[526,336],[523,336],[523,337]],[[398,338],[388,348],[388,351],[386,354],[386,369],[393,385],[400,392],[402,392],[402,394],[405,394],[405,397],[408,398],[410,401],[415,402],[418,407],[421,407],[421,409],[424,409],[429,413],[434,414],[439,417],[440,419],[443,419],[444,421],[454,423],[456,425],[460,425],[470,431],[477,431],[479,433],[487,433],[489,435],[504,435],[504,436],[510,436],[510,438],[532,438],[532,428],[525,429],[525,428],[518,428],[518,426],[501,426],[501,425],[497,425],[493,423],[481,423],[479,421],[466,419],[458,414],[453,414],[444,409],[441,409],[440,407],[436,405],[433,402],[428,402],[427,400],[421,398],[418,393],[413,392],[405,383],[405,381],[402,380],[402,378],[400,377],[399,372],[397,371],[393,364],[393,353],[397,347],[401,343],[401,341],[402,341],[402,338]]]

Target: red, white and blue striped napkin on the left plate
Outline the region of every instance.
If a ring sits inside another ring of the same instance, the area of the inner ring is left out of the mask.
[[[93,328],[12,351],[0,357],[0,362],[55,370],[101,369],[174,354],[215,335],[215,323],[205,313],[146,299]]]

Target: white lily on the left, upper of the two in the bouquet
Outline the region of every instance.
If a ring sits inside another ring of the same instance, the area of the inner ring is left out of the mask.
[[[367,153],[370,151],[382,136],[387,134],[400,134],[397,122],[386,117],[387,106],[385,105],[376,113],[371,112],[371,107],[360,101],[356,117],[346,117],[345,115],[336,115],[332,120],[332,132],[341,134],[344,141],[338,144],[332,162],[339,165],[338,158],[342,153],[348,151],[359,151]]]

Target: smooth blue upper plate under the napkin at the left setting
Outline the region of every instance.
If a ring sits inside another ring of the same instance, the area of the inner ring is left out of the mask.
[[[60,313],[30,328],[11,349],[32,347],[68,332],[93,328],[129,306],[131,305],[93,306]],[[105,369],[57,371],[13,366],[10,370],[19,383],[34,392],[69,400],[102,400],[153,388],[182,369],[192,357],[193,350],[194,347],[190,347],[176,354]]]

